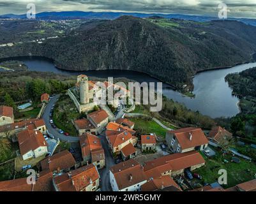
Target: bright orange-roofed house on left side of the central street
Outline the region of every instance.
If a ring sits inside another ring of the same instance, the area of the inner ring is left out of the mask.
[[[83,158],[82,164],[93,163],[98,169],[105,166],[105,152],[100,138],[90,133],[85,133],[80,136],[80,147]]]

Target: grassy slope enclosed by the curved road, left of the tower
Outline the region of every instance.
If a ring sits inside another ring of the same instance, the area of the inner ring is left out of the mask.
[[[53,120],[57,128],[62,129],[64,132],[72,136],[77,136],[77,130],[72,124],[72,120],[80,117],[77,108],[73,104],[72,99],[68,96],[61,96],[57,101],[54,108]]]

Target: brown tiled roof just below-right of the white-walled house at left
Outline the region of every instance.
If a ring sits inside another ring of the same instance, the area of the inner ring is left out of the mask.
[[[68,150],[54,154],[41,161],[42,170],[57,171],[66,170],[75,166],[75,159]]]

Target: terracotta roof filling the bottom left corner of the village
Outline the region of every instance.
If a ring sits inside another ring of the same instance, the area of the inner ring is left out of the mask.
[[[27,178],[4,180],[0,182],[0,191],[53,191],[52,172],[41,171],[36,184],[27,184]]]

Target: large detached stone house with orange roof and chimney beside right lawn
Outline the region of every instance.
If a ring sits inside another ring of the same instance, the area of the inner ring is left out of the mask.
[[[165,140],[169,149],[174,153],[203,150],[208,145],[208,140],[200,128],[183,128],[168,131]]]

